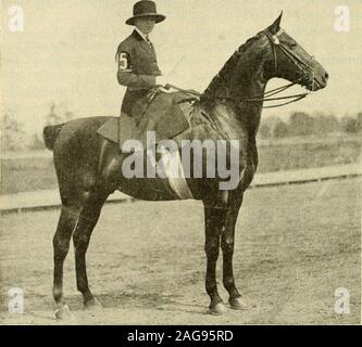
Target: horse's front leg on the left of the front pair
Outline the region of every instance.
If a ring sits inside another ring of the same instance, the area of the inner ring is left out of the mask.
[[[226,307],[217,293],[216,262],[220,252],[220,235],[225,219],[225,210],[204,207],[205,223],[205,253],[208,258],[205,288],[210,296],[210,311],[214,314],[223,314]]]

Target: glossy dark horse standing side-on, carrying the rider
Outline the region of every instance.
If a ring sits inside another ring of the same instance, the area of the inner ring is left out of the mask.
[[[61,214],[53,236],[53,299],[59,319],[73,312],[63,296],[63,264],[73,235],[77,290],[87,309],[101,304],[89,290],[86,252],[90,236],[108,196],[116,190],[137,200],[176,201],[194,198],[204,210],[204,250],[207,255],[205,291],[209,310],[223,314],[227,306],[216,285],[216,261],[223,254],[223,285],[230,308],[246,309],[233,272],[235,226],[244,193],[258,167],[257,133],[264,102],[287,98],[269,98],[287,87],[265,92],[272,78],[283,78],[308,91],[327,86],[328,74],[301,46],[280,28],[282,14],[266,29],[240,46],[194,104],[191,127],[185,138],[197,140],[236,139],[239,141],[239,182],[236,189],[221,190],[221,177],[185,178],[191,195],[180,196],[164,178],[126,178],[122,164],[126,159],[117,144],[99,134],[110,117],[74,119],[43,129],[45,143],[53,151],[61,196]],[[295,100],[304,97],[297,95]],[[227,154],[229,158],[229,153]]]

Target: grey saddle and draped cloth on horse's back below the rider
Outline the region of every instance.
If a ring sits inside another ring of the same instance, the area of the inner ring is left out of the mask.
[[[187,91],[152,89],[146,98],[135,103],[132,116],[122,113],[120,118],[110,118],[97,132],[118,143],[120,149],[127,140],[138,140],[146,150],[148,131],[154,131],[155,142],[159,143],[188,130],[196,100]]]

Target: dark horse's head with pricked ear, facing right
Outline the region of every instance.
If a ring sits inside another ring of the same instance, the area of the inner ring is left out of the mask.
[[[269,41],[267,68],[271,77],[285,78],[316,91],[327,86],[328,73],[312,55],[280,28],[282,15],[264,34]]]

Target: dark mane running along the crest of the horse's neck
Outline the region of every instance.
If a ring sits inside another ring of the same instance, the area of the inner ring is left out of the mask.
[[[235,65],[239,61],[240,56],[245,55],[247,49],[252,42],[257,40],[257,38],[258,35],[248,39],[244,44],[239,47],[239,49],[225,63],[219,74],[212,79],[211,83],[203,92],[203,95],[213,94],[215,90],[217,90],[221,86],[225,85],[225,81],[229,78],[230,74],[235,72]]]

